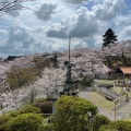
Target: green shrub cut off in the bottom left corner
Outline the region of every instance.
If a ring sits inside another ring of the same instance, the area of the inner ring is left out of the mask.
[[[0,131],[8,131],[9,116],[0,116]]]

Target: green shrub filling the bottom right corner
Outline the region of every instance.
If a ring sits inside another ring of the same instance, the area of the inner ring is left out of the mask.
[[[131,121],[119,120],[116,122],[116,127],[119,131],[131,131]]]

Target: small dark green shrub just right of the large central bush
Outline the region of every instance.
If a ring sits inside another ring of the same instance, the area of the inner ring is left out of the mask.
[[[97,131],[99,128],[100,128],[100,126],[103,126],[103,124],[108,124],[110,122],[110,120],[107,118],[107,117],[105,117],[105,116],[103,116],[103,115],[98,115],[96,118],[95,118],[95,122],[94,122],[94,128],[93,128],[93,130],[94,131]]]

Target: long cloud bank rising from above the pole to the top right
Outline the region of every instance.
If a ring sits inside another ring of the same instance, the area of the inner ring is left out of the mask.
[[[91,11],[81,7],[76,14],[52,24],[47,31],[47,36],[57,38],[93,36],[98,33],[105,21],[111,21],[123,7],[123,0],[105,0],[102,4],[94,5]]]

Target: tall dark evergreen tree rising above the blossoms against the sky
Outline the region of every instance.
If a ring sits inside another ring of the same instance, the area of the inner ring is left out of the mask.
[[[107,29],[107,32],[105,33],[105,35],[103,35],[103,40],[104,40],[104,44],[103,44],[103,47],[107,47],[109,44],[114,44],[115,41],[117,41],[117,35],[115,34],[115,32],[109,28]]]

